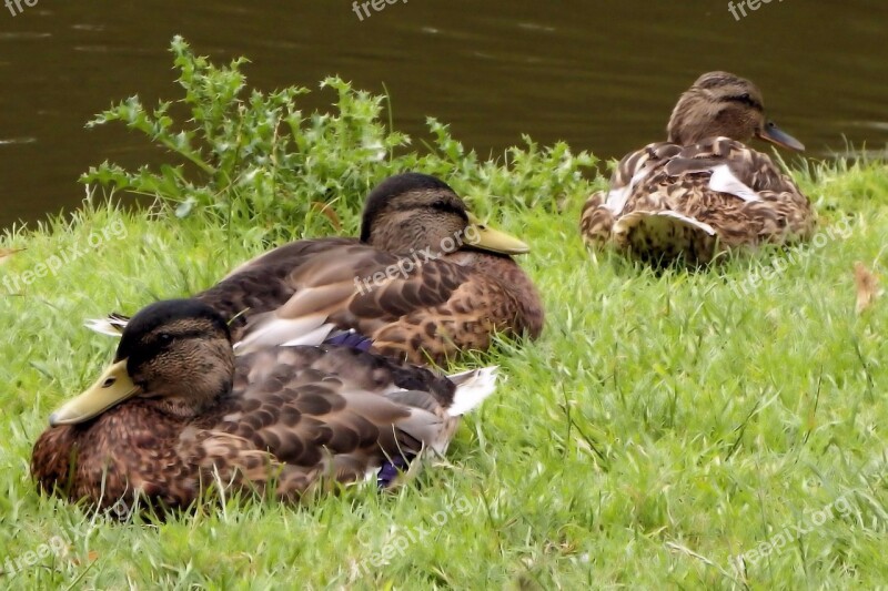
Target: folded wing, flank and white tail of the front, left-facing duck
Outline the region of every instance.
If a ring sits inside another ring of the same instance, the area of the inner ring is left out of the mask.
[[[273,476],[279,497],[296,498],[444,455],[458,417],[494,389],[494,368],[451,380],[349,348],[263,349],[239,358],[231,397],[180,445],[203,478],[264,492]]]

